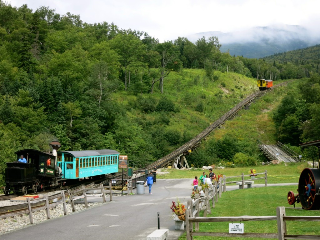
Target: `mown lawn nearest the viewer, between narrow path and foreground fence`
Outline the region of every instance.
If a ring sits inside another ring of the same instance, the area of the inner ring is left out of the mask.
[[[293,209],[287,202],[287,193],[297,189],[297,186],[246,188],[222,193],[221,198],[212,208],[212,214],[207,217],[221,216],[276,216],[276,207],[284,206],[287,216],[319,216],[320,211],[301,210],[301,205],[296,204]],[[203,211],[200,212],[203,216]],[[229,231],[231,222],[200,223],[200,232],[226,232]],[[245,221],[244,232],[277,233],[276,221]],[[287,234],[291,235],[320,235],[319,222],[287,221]],[[212,237],[194,236],[194,239],[212,239]],[[179,240],[186,239],[183,234]],[[214,239],[243,239],[242,237],[215,237]],[[256,238],[246,238],[256,239]],[[267,239],[267,238],[259,238]]]

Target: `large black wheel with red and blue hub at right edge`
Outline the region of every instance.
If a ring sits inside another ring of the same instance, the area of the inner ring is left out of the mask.
[[[319,210],[320,198],[316,195],[320,188],[320,171],[316,168],[305,168],[299,178],[299,199],[307,210]]]

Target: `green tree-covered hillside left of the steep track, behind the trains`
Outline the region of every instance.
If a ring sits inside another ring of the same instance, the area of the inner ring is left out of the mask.
[[[52,140],[61,150],[116,149],[142,166],[257,91],[256,78],[307,76],[299,64],[221,53],[216,37],[159,43],[113,23],[2,0],[0,38],[0,178],[15,151],[49,151]],[[254,143],[239,139],[252,163],[261,158]],[[233,156],[205,163],[220,160]]]

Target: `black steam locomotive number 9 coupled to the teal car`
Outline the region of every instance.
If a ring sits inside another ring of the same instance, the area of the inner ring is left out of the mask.
[[[36,193],[39,189],[44,191],[46,187],[62,186],[63,174],[61,168],[55,163],[55,156],[34,149],[20,150],[15,154],[17,154],[17,161],[7,163],[5,169],[5,195],[10,191],[14,193],[22,191],[23,195],[26,195],[28,189]],[[21,155],[26,158],[27,163],[18,161]],[[49,157],[50,164],[47,163]]]

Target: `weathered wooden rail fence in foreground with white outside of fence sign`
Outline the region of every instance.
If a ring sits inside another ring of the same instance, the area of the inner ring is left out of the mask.
[[[205,213],[205,212],[204,212]],[[286,229],[286,221],[320,221],[320,216],[286,216],[285,208],[277,207],[276,216],[240,216],[240,217],[198,217],[193,216],[192,210],[186,211],[186,231],[187,240],[192,240],[193,236],[218,236],[218,237],[254,237],[254,238],[276,238],[279,240],[285,239],[306,239],[306,240],[319,240],[320,235],[288,235]],[[196,232],[196,224],[200,222],[244,222],[244,221],[265,221],[276,220],[277,229],[276,233],[226,233],[226,232]],[[195,231],[193,231],[192,224],[195,224]]]

